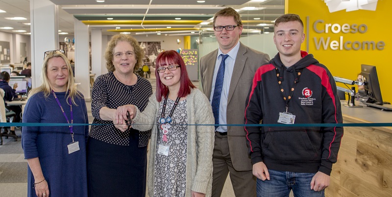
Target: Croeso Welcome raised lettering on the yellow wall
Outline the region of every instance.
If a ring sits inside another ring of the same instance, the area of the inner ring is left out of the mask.
[[[319,27],[318,27],[319,25]],[[325,23],[323,20],[317,20],[313,23],[313,29],[317,33],[351,33],[351,34],[365,34],[368,31],[368,26],[366,24],[331,24]],[[319,50],[322,47],[324,50],[327,50],[328,47],[332,50],[383,50],[385,43],[384,41],[345,41],[343,40],[343,36],[340,36],[338,40],[332,40],[331,37],[320,37],[319,40],[317,37],[314,37],[316,49]]]

